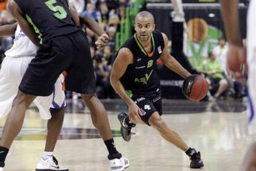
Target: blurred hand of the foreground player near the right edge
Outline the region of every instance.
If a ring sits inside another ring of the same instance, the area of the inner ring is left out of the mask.
[[[237,81],[243,82],[244,72],[247,72],[245,49],[242,46],[234,44],[229,45],[228,56],[227,56],[227,69],[229,75],[235,78]]]

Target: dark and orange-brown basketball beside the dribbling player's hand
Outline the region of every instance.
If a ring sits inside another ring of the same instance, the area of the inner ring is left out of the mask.
[[[201,75],[190,75],[183,82],[182,92],[191,101],[200,101],[207,95],[208,82]]]

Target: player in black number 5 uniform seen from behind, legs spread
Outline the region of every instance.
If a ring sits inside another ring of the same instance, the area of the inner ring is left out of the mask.
[[[93,124],[100,132],[109,155],[111,170],[124,170],[129,161],[116,150],[105,108],[95,95],[95,75],[86,35],[72,19],[67,1],[9,1],[9,10],[30,40],[40,46],[28,65],[12,109],[7,115],[0,143],[0,170],[3,170],[12,141],[18,135],[25,111],[36,96],[49,96],[54,83],[66,72],[66,90],[82,94]],[[100,29],[99,25],[96,28]],[[95,28],[95,29],[96,29]],[[98,46],[108,42],[101,34]]]

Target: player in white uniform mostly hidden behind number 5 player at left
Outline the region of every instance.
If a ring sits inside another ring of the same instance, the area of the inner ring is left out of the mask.
[[[17,23],[1,26],[0,36],[12,36],[14,31],[14,45],[9,51],[6,51],[6,57],[2,61],[0,70],[0,119],[11,110],[20,81],[38,49]],[[58,161],[53,157],[53,150],[62,128],[64,106],[66,106],[61,78],[56,81],[54,91],[50,96],[37,97],[33,102],[38,107],[41,118],[48,119],[45,152],[43,152],[36,170],[68,170],[59,166]]]

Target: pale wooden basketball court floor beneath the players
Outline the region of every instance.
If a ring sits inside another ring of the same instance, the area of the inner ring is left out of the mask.
[[[129,158],[129,171],[188,171],[189,158],[163,140],[146,125],[132,129],[129,143],[122,140],[117,114],[127,111],[119,100],[103,101],[108,111],[117,149]],[[256,140],[256,124],[248,125],[246,102],[191,102],[164,100],[163,119],[179,133],[189,146],[201,151],[205,164],[197,170],[236,171],[250,144]],[[4,120],[1,120],[1,132]],[[46,121],[35,107],[27,112],[19,137],[7,156],[5,171],[35,170],[45,145]],[[82,101],[67,101],[64,125],[54,156],[69,170],[109,170],[107,150],[92,125],[90,113]]]

